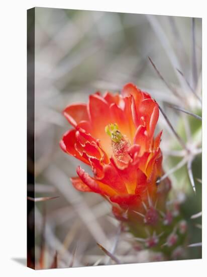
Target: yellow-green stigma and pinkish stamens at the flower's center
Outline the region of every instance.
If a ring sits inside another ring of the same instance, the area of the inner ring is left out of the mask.
[[[128,138],[120,132],[117,123],[107,125],[105,131],[111,137],[114,158],[120,165],[127,164],[130,160],[128,154],[130,142]]]

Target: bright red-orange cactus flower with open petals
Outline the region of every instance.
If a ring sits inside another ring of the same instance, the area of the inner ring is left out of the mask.
[[[63,114],[73,128],[60,147],[93,171],[89,176],[77,167],[78,177],[71,178],[76,189],[107,198],[117,217],[120,207],[135,209],[149,195],[157,198],[162,132],[153,138],[159,108],[148,93],[127,84],[121,94],[96,92],[87,104],[69,105]]]

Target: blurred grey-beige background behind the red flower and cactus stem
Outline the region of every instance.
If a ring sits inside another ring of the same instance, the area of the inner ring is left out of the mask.
[[[35,203],[38,266],[42,253],[44,268],[56,253],[58,267],[113,263],[96,242],[109,250],[116,247],[123,263],[154,260],[120,235],[105,200],[72,187],[69,177],[76,176],[80,162],[60,150],[59,141],[70,128],[61,112],[70,103],[87,102],[95,91],[119,92],[133,82],[163,107],[186,144],[201,147],[201,121],[165,105],[201,116],[195,96],[201,96],[201,32],[198,18],[35,8],[35,197],[59,196]],[[156,131],[161,129],[167,172],[182,156],[172,155],[181,150],[162,115]],[[186,166],[169,176],[173,193],[186,197],[183,213],[189,222],[201,211],[201,155],[193,160],[192,172],[196,195]],[[201,230],[194,226],[201,224],[200,218],[190,224],[190,243],[200,242]],[[200,247],[190,251],[191,258],[201,257]]]

